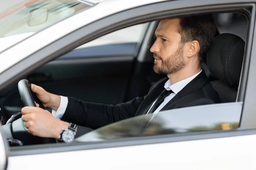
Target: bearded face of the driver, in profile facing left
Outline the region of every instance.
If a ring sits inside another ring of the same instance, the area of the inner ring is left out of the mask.
[[[179,24],[179,19],[162,20],[155,31],[157,40],[150,51],[154,53],[154,71],[158,74],[172,74],[186,65],[184,45],[177,32]]]

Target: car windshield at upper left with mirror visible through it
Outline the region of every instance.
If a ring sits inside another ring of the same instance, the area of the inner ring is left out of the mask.
[[[0,51],[90,6],[76,0],[26,0],[0,13]]]

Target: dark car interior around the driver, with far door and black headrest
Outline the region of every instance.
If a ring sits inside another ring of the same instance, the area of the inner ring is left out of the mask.
[[[201,68],[218,92],[221,102],[236,102],[248,20],[241,13],[230,13],[226,21],[223,19],[226,13],[213,16],[218,34]],[[157,23],[151,23],[154,24],[153,30],[157,28]],[[41,66],[23,79],[50,93],[87,102],[114,105],[137,96],[145,96],[155,82],[166,78],[166,75],[156,74],[152,69],[154,58],[149,49],[155,40],[154,31],[149,34],[143,35],[142,42],[76,48]],[[147,51],[143,60],[139,60],[140,48],[145,40],[148,40]],[[2,125],[24,106],[17,83],[18,81],[0,92]]]

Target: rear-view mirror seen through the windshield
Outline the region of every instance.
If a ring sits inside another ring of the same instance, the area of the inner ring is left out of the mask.
[[[42,23],[45,23],[48,18],[48,9],[38,8],[33,11],[30,11],[28,14],[27,24],[28,26],[38,26]]]

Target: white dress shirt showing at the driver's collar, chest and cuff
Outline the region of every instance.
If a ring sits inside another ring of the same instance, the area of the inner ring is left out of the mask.
[[[202,71],[202,70],[201,70]],[[179,92],[181,91],[187,84],[189,84],[189,82],[192,81],[192,79],[194,79],[195,77],[198,76],[198,74],[201,73],[201,71],[197,74],[195,74],[194,76],[192,77],[189,77],[187,79],[183,79],[179,82],[176,82],[172,85],[170,79],[165,83],[164,85],[164,88],[166,90],[172,90],[173,93],[171,93],[169,96],[167,96],[163,103],[161,103],[161,105],[154,111],[153,113],[153,116],[151,119],[153,119],[153,117]],[[156,102],[157,100],[154,101],[154,103]],[[61,119],[62,116],[64,115],[66,109],[67,109],[67,103],[68,103],[68,99],[67,97],[65,96],[61,96],[61,103],[60,103],[60,106],[58,108],[57,111],[55,110],[52,110],[52,115],[57,118],[57,119]],[[154,105],[154,103],[151,105],[151,107],[149,108],[148,111],[150,111],[150,109],[152,108],[152,106]],[[148,114],[148,113],[147,113]]]

